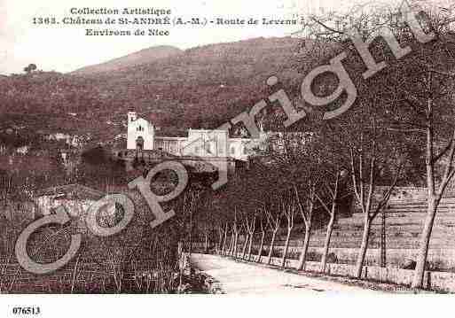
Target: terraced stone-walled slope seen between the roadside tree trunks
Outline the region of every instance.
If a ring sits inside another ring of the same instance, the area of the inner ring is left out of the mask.
[[[427,213],[427,202],[420,198],[421,191],[412,192],[413,198],[396,198],[385,209],[386,256],[388,267],[400,267],[406,259],[415,260]],[[420,199],[419,199],[420,198]],[[365,263],[378,265],[380,260],[381,214],[371,229]],[[337,220],[333,230],[330,252],[337,254],[344,263],[353,263],[357,258],[363,233],[364,215],[360,211],[348,218]],[[314,231],[310,240],[310,251],[321,252],[326,237],[326,229]],[[293,242],[295,248],[302,245]],[[294,248],[293,246],[293,248]],[[444,198],[435,218],[428,260],[440,269],[455,268],[455,199]]]

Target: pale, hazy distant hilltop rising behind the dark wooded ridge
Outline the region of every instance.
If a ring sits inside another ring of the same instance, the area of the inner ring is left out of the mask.
[[[82,67],[74,71],[72,74],[88,75],[104,72],[115,72],[121,70],[122,68],[149,64],[160,58],[169,58],[182,53],[183,50],[180,50],[173,46],[155,46],[153,48],[139,50],[122,58],[114,58],[105,63]]]

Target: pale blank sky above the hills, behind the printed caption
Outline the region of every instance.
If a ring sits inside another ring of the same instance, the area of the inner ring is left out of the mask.
[[[44,71],[66,73],[156,45],[173,45],[184,50],[260,36],[286,36],[298,30],[295,26],[171,27],[169,36],[86,36],[85,28],[93,26],[32,23],[34,17],[71,17],[70,10],[75,7],[153,6],[171,9],[174,17],[290,19],[293,14],[321,8],[342,10],[354,1],[357,0],[0,0],[0,74],[21,73],[30,63]]]

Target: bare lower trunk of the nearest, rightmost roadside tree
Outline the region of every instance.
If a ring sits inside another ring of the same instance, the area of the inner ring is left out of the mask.
[[[433,229],[433,223],[435,222],[435,216],[438,206],[438,198],[428,199],[428,210],[427,218],[423,226],[423,231],[420,236],[419,252],[417,254],[416,267],[414,270],[414,278],[412,281],[412,287],[422,288],[423,278],[425,275],[425,265],[428,257],[428,247],[431,238],[431,231]]]

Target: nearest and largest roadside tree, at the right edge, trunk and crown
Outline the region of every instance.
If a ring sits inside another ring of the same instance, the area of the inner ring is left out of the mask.
[[[428,12],[428,16],[434,18],[429,21],[435,33],[435,42],[414,49],[412,65],[407,65],[406,69],[419,68],[421,72],[418,76],[412,76],[413,88],[408,85],[400,87],[405,103],[412,105],[412,112],[420,117],[416,124],[423,127],[425,136],[428,209],[420,235],[417,264],[412,282],[415,288],[423,287],[429,242],[437,208],[449,182],[455,175],[455,126],[453,125],[455,74],[445,71],[447,68],[454,70],[455,59],[451,53],[454,47],[449,42],[451,40],[447,38],[447,29],[444,30],[447,21],[435,18],[434,12]],[[410,79],[404,78],[404,80]],[[415,85],[416,80],[420,85]],[[415,89],[415,86],[418,86],[419,90]],[[441,147],[443,143],[445,145]]]

